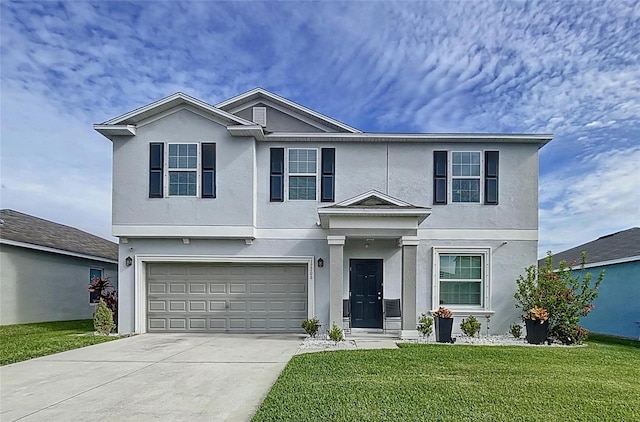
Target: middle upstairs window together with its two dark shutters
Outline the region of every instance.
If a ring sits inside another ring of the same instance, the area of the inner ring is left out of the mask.
[[[322,202],[333,202],[335,157],[335,148],[322,148],[320,160],[315,148],[271,148],[269,201],[316,201],[320,192]]]

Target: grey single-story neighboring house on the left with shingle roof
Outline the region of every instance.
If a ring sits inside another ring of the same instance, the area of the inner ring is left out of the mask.
[[[0,210],[0,325],[91,318],[87,289],[95,276],[117,286],[117,244]]]

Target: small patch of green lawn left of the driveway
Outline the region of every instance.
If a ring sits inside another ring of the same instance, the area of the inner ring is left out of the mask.
[[[38,322],[0,326],[0,365],[104,343],[117,337],[78,336],[93,333],[93,321]]]

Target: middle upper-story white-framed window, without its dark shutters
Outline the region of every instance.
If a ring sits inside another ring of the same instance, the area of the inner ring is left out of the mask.
[[[287,149],[287,198],[316,201],[318,198],[318,150]]]

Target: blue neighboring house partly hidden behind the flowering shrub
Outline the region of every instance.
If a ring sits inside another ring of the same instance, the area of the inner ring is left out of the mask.
[[[584,272],[593,280],[605,271],[595,308],[582,319],[582,326],[594,333],[640,339],[640,227],[557,253],[554,266],[564,260],[569,265],[575,261],[574,270],[580,268],[582,251],[587,253]],[[544,263],[538,261],[539,266]]]

